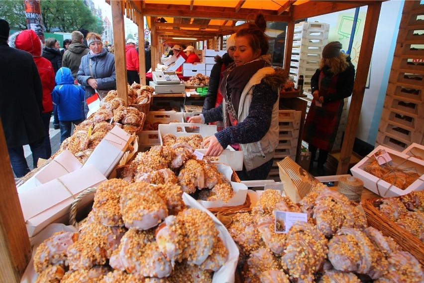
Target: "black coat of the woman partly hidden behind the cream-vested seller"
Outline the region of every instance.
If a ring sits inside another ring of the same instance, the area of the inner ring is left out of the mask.
[[[230,63],[234,62],[234,60],[231,59],[228,53],[225,53],[222,57],[216,56],[215,62],[211,70],[211,75],[209,76],[208,93],[203,103],[203,110],[209,110],[215,107],[216,95],[222,78],[222,64],[225,65],[224,68],[226,68]]]

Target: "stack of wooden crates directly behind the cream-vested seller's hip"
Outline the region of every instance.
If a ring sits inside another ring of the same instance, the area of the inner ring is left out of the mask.
[[[289,156],[296,160],[296,150],[299,138],[299,128],[302,111],[279,110],[278,124],[280,127],[279,142],[275,150],[274,162],[268,179],[280,181],[279,168],[277,162]]]

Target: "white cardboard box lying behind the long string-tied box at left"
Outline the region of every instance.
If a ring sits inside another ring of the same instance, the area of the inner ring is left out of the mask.
[[[81,166],[83,166],[83,164],[81,164],[78,158],[75,157],[75,155],[72,154],[69,149],[65,149],[48,164],[39,168],[37,173],[35,173],[25,183],[18,186],[17,191],[18,193],[22,193],[24,191],[41,186],[42,184],[45,184],[55,178],[75,171],[81,168]]]

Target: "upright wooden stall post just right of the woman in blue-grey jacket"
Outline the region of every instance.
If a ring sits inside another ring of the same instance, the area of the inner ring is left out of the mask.
[[[125,32],[122,32],[125,30],[123,4],[124,1],[121,0],[110,1],[110,6],[112,8],[113,44],[115,46],[116,89],[118,90],[118,97],[122,98],[126,105],[128,88],[125,60]]]

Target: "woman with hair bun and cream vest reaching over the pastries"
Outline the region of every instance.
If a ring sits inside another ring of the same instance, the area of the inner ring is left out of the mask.
[[[223,102],[190,123],[222,121],[224,129],[206,139],[206,155],[217,156],[229,144],[237,144],[244,153],[241,180],[266,179],[278,144],[278,105],[281,86],[288,73],[271,67],[266,20],[259,14],[255,23],[235,35],[234,68],[223,72],[219,90]],[[236,146],[237,147],[237,146]]]

